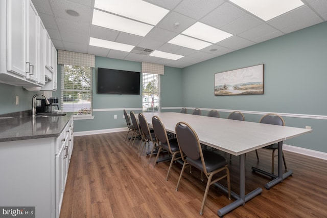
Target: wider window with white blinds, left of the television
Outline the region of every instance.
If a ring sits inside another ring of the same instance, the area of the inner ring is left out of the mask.
[[[62,65],[61,108],[74,115],[92,114],[92,68]]]

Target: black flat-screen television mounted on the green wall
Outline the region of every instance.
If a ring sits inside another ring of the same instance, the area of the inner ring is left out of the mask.
[[[140,72],[98,68],[98,94],[139,95]]]

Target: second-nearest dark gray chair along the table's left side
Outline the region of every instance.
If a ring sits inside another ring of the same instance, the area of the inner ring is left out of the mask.
[[[152,126],[154,129],[154,133],[155,133],[155,137],[157,139],[158,146],[159,146],[159,150],[158,150],[157,156],[155,158],[153,168],[155,167],[155,164],[157,163],[160,152],[163,149],[167,150],[169,152],[169,154],[172,155],[170,165],[168,168],[168,172],[167,172],[167,176],[166,176],[166,181],[167,181],[170,169],[173,166],[173,162],[181,158],[179,155],[180,151],[179,151],[177,139],[176,138],[168,139],[165,125],[164,125],[164,123],[162,123],[162,121],[160,120],[159,117],[157,117],[157,116],[152,117]]]

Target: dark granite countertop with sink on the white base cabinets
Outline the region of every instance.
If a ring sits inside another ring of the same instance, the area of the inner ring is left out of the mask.
[[[0,116],[0,142],[58,137],[71,116]]]

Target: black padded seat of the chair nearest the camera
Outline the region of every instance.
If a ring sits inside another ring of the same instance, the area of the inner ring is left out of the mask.
[[[205,167],[206,167],[207,172],[212,172],[212,171],[219,169],[227,164],[226,158],[224,158],[223,156],[221,156],[213,151],[202,149],[202,153],[203,153],[203,158],[204,158]],[[186,157],[186,160],[192,166],[203,171],[201,158],[199,158],[198,160],[192,160],[191,158]]]

